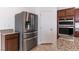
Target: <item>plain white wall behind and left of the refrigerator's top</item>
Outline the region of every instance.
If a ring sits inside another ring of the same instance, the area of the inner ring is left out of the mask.
[[[0,29],[15,28],[15,14],[28,11],[34,13],[34,8],[30,7],[0,7]]]

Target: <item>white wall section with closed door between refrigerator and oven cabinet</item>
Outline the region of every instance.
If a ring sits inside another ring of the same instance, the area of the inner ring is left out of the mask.
[[[38,43],[56,43],[57,40],[57,8],[36,8],[38,18]]]

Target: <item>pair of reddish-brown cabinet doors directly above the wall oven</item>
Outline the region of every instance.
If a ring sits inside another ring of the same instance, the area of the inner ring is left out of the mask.
[[[75,8],[67,8],[67,9],[62,9],[57,11],[58,17],[70,17],[74,15],[75,15]]]

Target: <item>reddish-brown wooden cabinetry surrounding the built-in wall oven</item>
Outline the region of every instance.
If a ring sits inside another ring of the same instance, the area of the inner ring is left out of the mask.
[[[60,20],[74,20],[73,24],[74,24],[74,36],[79,37],[79,32],[76,31],[75,32],[75,22],[79,22],[79,8],[67,8],[67,9],[62,9],[62,10],[58,10],[57,11],[57,22]],[[57,24],[57,28],[58,28],[59,23]],[[58,28],[58,32],[59,32],[59,28]],[[57,32],[57,35],[58,35]]]

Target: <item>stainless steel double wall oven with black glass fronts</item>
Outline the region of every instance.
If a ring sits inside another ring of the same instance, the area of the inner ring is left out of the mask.
[[[74,35],[74,19],[73,18],[67,18],[64,20],[60,20],[58,22],[58,30],[59,30],[59,36],[60,34],[63,35]]]

